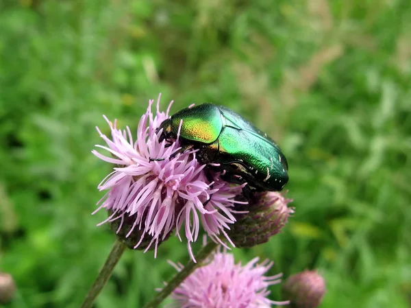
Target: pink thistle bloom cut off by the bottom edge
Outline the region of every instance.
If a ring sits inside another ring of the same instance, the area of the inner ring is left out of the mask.
[[[268,287],[280,282],[282,274],[264,276],[273,265],[266,260],[257,264],[258,258],[246,265],[234,263],[234,255],[215,252],[208,264],[197,268],[175,289],[171,307],[186,308],[269,308],[287,305],[289,301],[275,302],[266,296]],[[175,265],[177,271],[182,265]]]

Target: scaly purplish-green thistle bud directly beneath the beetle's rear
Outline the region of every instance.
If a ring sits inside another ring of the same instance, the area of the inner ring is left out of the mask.
[[[291,201],[277,191],[255,193],[247,205],[249,213],[237,217],[238,222],[229,231],[236,247],[249,248],[263,244],[279,233],[288,222],[288,216],[294,213],[287,206]]]

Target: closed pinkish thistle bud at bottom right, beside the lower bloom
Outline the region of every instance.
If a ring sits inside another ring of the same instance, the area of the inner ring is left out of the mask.
[[[316,308],[325,294],[325,280],[318,272],[306,270],[288,277],[283,293],[292,308]]]

